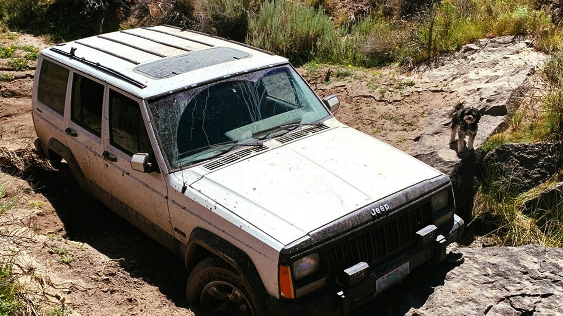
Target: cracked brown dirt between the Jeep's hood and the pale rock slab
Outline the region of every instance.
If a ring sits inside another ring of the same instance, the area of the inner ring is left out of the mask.
[[[415,83],[409,73],[396,67],[307,66],[299,70],[320,97],[338,96],[341,107],[334,115],[339,121],[406,152],[422,129],[432,124],[432,111],[450,109],[458,101],[442,89]],[[449,121],[446,114],[445,123]]]

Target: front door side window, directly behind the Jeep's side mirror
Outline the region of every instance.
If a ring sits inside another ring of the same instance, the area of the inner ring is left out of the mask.
[[[109,112],[111,145],[129,156],[136,152],[154,156],[137,101],[110,90]]]

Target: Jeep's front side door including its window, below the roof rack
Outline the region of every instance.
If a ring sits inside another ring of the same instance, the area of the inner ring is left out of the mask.
[[[104,156],[111,192],[120,202],[173,235],[163,175],[157,171],[143,173],[131,168],[131,156],[136,152],[150,154],[153,165],[157,165],[145,128],[143,116],[146,113],[142,113],[139,102],[133,97],[113,88],[109,90],[108,105]],[[122,206],[115,206],[123,209]],[[128,211],[118,210],[118,213],[123,213],[122,216],[134,222]],[[146,229],[152,229],[150,225],[138,224],[137,227],[145,232]],[[150,232],[146,233],[150,235]]]

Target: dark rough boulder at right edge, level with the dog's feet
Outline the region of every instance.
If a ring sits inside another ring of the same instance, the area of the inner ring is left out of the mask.
[[[492,185],[522,193],[551,179],[563,168],[563,142],[506,144],[489,152],[482,162]]]

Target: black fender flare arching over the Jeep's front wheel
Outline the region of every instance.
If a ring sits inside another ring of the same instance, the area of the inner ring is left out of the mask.
[[[186,268],[191,263],[191,258],[195,253],[196,246],[201,246],[209,252],[217,255],[232,265],[239,276],[243,279],[244,285],[247,287],[251,295],[252,302],[256,306],[258,315],[269,315],[266,307],[266,288],[262,283],[262,279],[254,267],[254,263],[242,250],[233,246],[230,242],[207,231],[204,228],[196,227],[190,234],[186,249]]]

